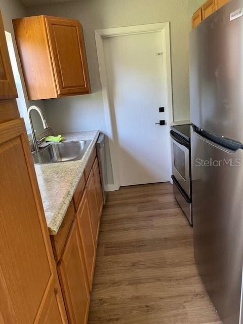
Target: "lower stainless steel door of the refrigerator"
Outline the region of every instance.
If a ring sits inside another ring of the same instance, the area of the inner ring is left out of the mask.
[[[191,128],[194,257],[224,324],[238,324],[243,260],[243,150]]]

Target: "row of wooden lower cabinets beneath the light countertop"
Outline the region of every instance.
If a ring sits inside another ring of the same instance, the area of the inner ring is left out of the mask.
[[[69,324],[85,324],[88,320],[103,208],[96,151],[91,153],[85,171],[58,233],[51,235]]]

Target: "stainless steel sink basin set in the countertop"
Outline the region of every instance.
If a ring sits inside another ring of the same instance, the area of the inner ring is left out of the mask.
[[[85,154],[91,140],[51,143],[49,146],[33,153],[35,164],[57,163],[79,160]]]

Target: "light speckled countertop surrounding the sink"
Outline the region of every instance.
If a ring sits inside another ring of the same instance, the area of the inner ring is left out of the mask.
[[[98,139],[99,131],[62,135],[65,141],[91,140],[91,143],[80,160],[34,166],[50,234],[57,234],[58,232]]]

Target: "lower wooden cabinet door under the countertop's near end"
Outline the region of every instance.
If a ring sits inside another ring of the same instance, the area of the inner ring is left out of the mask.
[[[58,265],[58,272],[69,323],[86,323],[90,293],[76,220],[69,232],[63,257]]]

